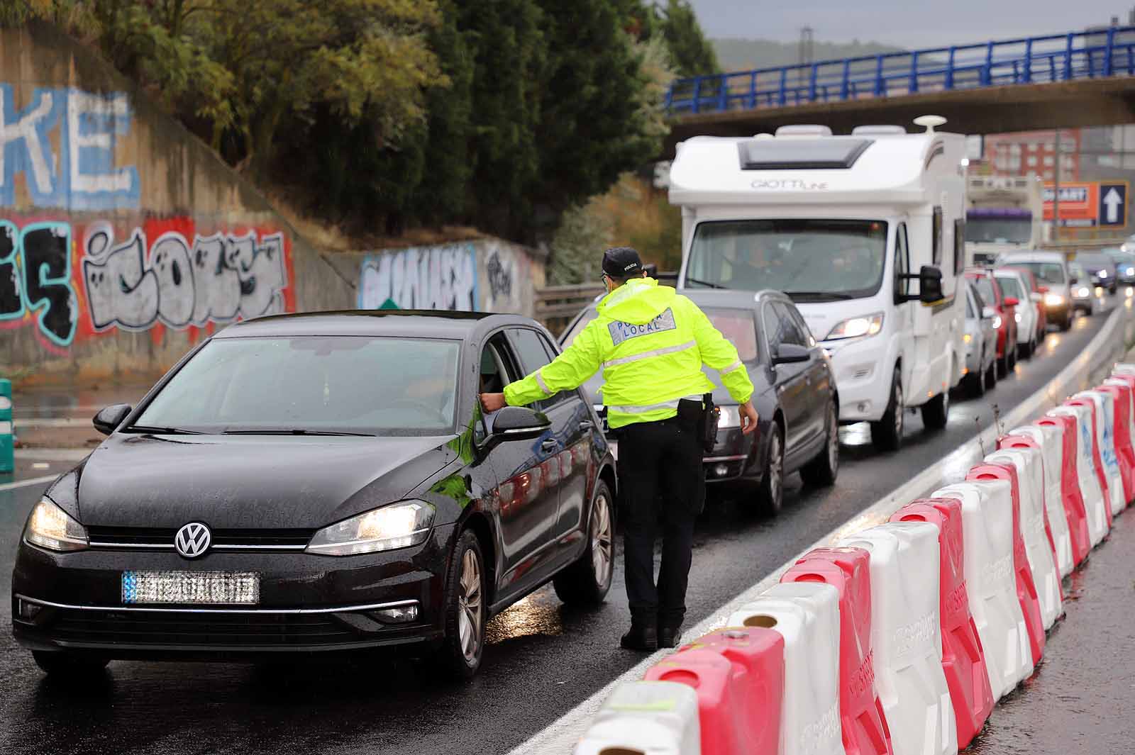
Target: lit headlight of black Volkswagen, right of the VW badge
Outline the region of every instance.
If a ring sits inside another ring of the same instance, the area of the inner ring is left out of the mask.
[[[403,501],[323,527],[308,543],[309,553],[356,555],[420,545],[429,537],[435,509],[426,501]]]

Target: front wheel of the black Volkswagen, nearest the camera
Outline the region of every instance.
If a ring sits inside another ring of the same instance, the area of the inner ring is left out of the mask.
[[[466,529],[453,549],[445,580],[445,637],[436,655],[438,670],[454,679],[470,679],[485,653],[485,557],[477,535]]]

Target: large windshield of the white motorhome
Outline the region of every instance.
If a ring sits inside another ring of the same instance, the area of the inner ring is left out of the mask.
[[[886,223],[878,220],[728,220],[699,223],[688,288],[784,291],[797,302],[873,296],[883,282]]]

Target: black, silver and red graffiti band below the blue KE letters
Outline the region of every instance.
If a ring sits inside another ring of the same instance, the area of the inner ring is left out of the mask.
[[[0,219],[0,328],[34,326],[51,347],[293,311],[292,278],[291,244],[274,228]]]

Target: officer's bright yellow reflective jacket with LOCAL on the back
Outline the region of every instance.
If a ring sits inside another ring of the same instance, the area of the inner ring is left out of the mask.
[[[582,385],[603,368],[603,402],[612,429],[678,414],[678,401],[700,399],[714,384],[703,363],[721,374],[738,404],[753,396],[737,348],[693,302],[651,278],[634,278],[603,297],[599,315],[563,354],[504,389],[523,406]]]

